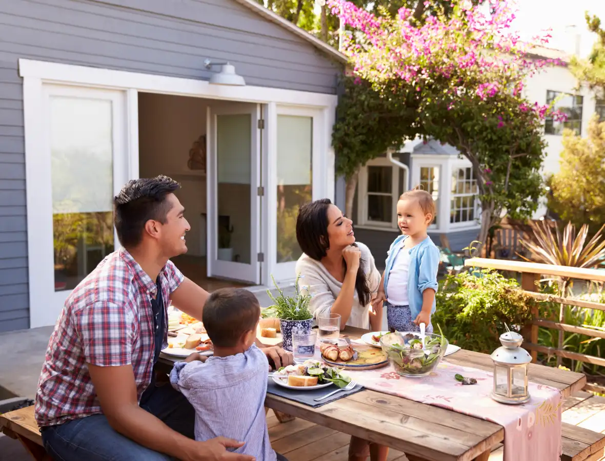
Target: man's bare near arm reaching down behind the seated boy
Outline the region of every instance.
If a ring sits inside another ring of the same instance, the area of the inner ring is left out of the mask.
[[[253,461],[252,456],[229,453],[226,447],[243,443],[218,437],[196,442],[165,425],[139,407],[132,366],[100,367],[88,364],[103,414],[114,430],[154,451],[184,461]]]

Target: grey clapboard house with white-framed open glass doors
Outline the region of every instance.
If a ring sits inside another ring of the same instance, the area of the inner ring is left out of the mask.
[[[255,0],[11,0],[0,21],[0,332],[55,323],[118,247],[131,178],[181,183],[187,276],[293,279],[287,217],[335,196],[342,54]]]

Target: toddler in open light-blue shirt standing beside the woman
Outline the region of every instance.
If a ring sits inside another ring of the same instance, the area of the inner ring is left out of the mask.
[[[386,301],[388,329],[433,332],[439,249],[427,234],[435,217],[435,202],[425,190],[404,192],[397,202],[397,225],[403,235],[388,251],[387,267],[374,298],[374,309]]]

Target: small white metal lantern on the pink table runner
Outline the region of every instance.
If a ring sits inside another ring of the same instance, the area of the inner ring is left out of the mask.
[[[491,355],[494,361],[492,399],[503,404],[524,404],[529,400],[528,365],[531,355],[521,347],[522,335],[508,331],[500,335],[502,347]]]

